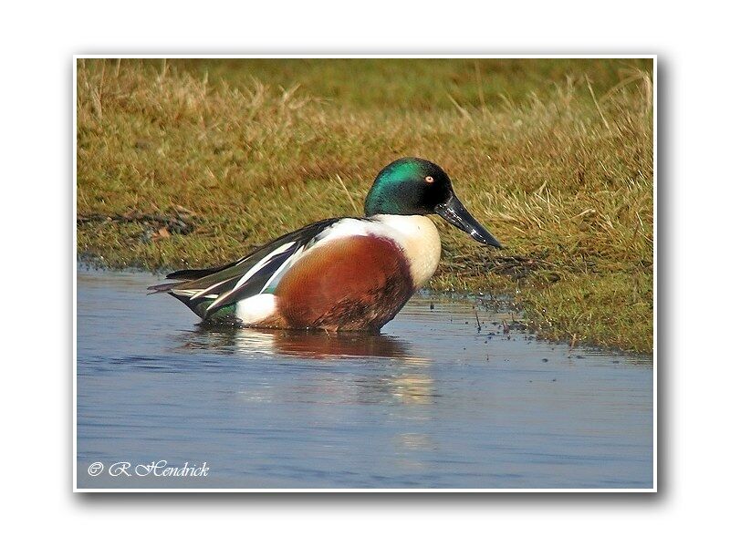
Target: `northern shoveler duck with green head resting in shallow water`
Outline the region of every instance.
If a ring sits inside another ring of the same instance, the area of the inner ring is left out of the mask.
[[[441,239],[429,214],[502,246],[456,198],[443,169],[402,158],[378,173],[364,218],[314,222],[234,263],[174,272],[172,283],[150,289],[207,321],[378,331],[436,270]]]

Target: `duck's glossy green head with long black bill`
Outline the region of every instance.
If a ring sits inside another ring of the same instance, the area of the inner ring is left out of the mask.
[[[401,158],[386,165],[365,199],[365,214],[438,214],[477,242],[502,246],[456,198],[443,169],[421,158]]]

